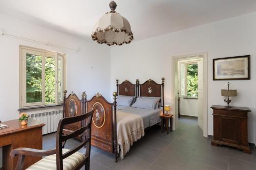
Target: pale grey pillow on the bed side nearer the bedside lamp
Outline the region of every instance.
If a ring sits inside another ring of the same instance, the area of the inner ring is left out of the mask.
[[[139,97],[132,107],[155,110],[158,98]]]

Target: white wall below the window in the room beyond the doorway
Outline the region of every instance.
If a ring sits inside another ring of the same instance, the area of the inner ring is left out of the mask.
[[[197,99],[180,98],[180,114],[197,117],[198,116]]]

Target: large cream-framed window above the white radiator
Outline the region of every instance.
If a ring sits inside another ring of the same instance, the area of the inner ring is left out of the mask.
[[[65,57],[57,52],[20,46],[20,108],[62,102]]]

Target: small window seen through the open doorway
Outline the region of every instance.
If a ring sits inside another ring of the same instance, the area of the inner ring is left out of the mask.
[[[179,82],[180,96],[197,98],[198,97],[198,64],[179,63]]]

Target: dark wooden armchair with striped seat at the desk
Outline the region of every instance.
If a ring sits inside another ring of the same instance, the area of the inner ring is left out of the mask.
[[[29,148],[17,148],[11,151],[11,157],[18,155],[18,162],[15,170],[22,170],[24,165],[24,160],[26,155],[30,156],[46,156],[35,164],[31,165],[27,169],[30,170],[40,170],[40,169],[58,169],[58,170],[73,170],[80,169],[85,165],[85,169],[90,169],[90,152],[91,152],[91,125],[92,125],[92,115],[94,110],[74,117],[62,118],[58,124],[58,130],[56,134],[56,149],[53,150],[36,150]],[[87,121],[87,126],[83,126],[68,135],[63,135],[63,128],[65,125],[74,124],[81,121]],[[87,133],[87,139],[81,141],[72,150],[62,149],[63,143],[68,139],[74,138],[78,135]],[[31,137],[31,136],[28,136]],[[86,153],[81,154],[77,152],[79,149],[86,145]],[[40,168],[41,167],[41,168]]]

